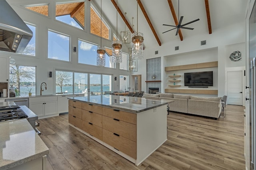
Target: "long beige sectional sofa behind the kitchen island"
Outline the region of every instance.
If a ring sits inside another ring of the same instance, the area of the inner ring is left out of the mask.
[[[220,116],[222,105],[220,102],[221,98],[211,97],[196,97],[190,95],[181,94],[148,94],[144,93],[143,98],[150,99],[169,99],[174,100],[170,103],[170,111],[177,111],[181,113],[189,113],[194,115],[202,115],[207,117],[214,117],[217,119]]]

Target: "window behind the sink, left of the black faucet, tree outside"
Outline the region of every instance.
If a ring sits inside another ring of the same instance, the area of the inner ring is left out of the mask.
[[[10,64],[10,89],[15,96],[28,96],[31,89],[32,95],[36,95],[36,67]],[[14,97],[11,94],[10,96]]]

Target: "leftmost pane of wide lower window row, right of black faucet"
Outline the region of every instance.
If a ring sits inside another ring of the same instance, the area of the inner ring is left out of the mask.
[[[56,94],[73,94],[73,72],[56,71]]]

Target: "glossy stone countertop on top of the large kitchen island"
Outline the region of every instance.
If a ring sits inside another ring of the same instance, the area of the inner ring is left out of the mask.
[[[116,95],[90,96],[90,99],[88,99],[87,96],[73,97],[68,99],[88,104],[94,104],[102,107],[123,110],[130,113],[139,113],[145,110],[153,109],[155,107],[167,105],[174,102],[173,100],[155,100]]]

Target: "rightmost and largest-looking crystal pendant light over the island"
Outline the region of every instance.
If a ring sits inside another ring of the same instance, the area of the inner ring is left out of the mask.
[[[138,31],[138,1],[137,0],[137,31]],[[132,58],[143,59],[143,33],[134,32],[132,33]]]

